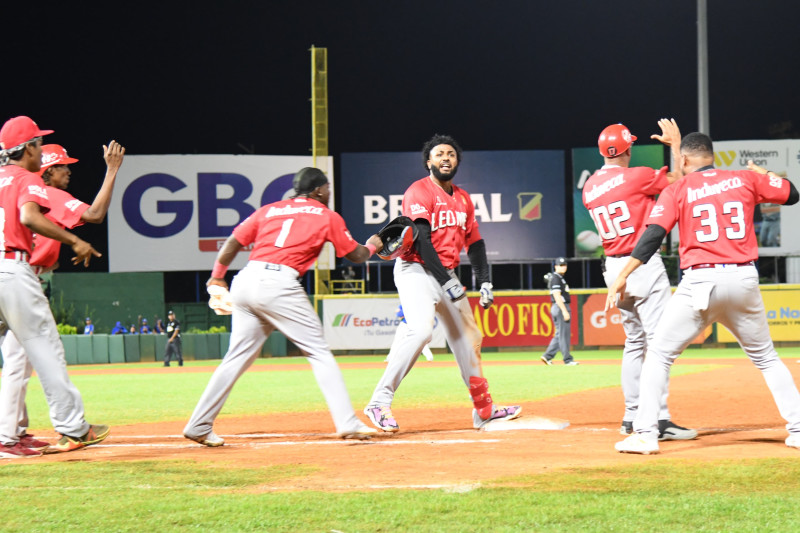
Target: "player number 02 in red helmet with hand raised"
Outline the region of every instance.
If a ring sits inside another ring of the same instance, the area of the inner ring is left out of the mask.
[[[661,135],[652,135],[671,147],[676,164],[680,161],[681,132],[675,120],[658,121]],[[630,167],[631,147],[636,136],[622,124],[612,124],[600,132],[597,144],[605,164],[586,180],[583,187],[583,205],[597,227],[605,250],[606,286],[610,287],[630,258],[636,240],[644,233],[644,221],[656,203],[656,195],[679,173],[667,172],[667,167],[654,170],[649,167]],[[625,348],[622,350],[622,394],[625,413],[620,433],[633,432],[633,419],[639,407],[639,379],[642,374],[647,346],[653,340],[656,324],[672,293],[661,261],[661,254],[637,269],[628,279],[625,293],[620,296],[617,308],[625,330]],[[668,388],[664,388],[658,412],[659,440],[685,440],[697,437],[697,431],[671,421],[667,409]]]

